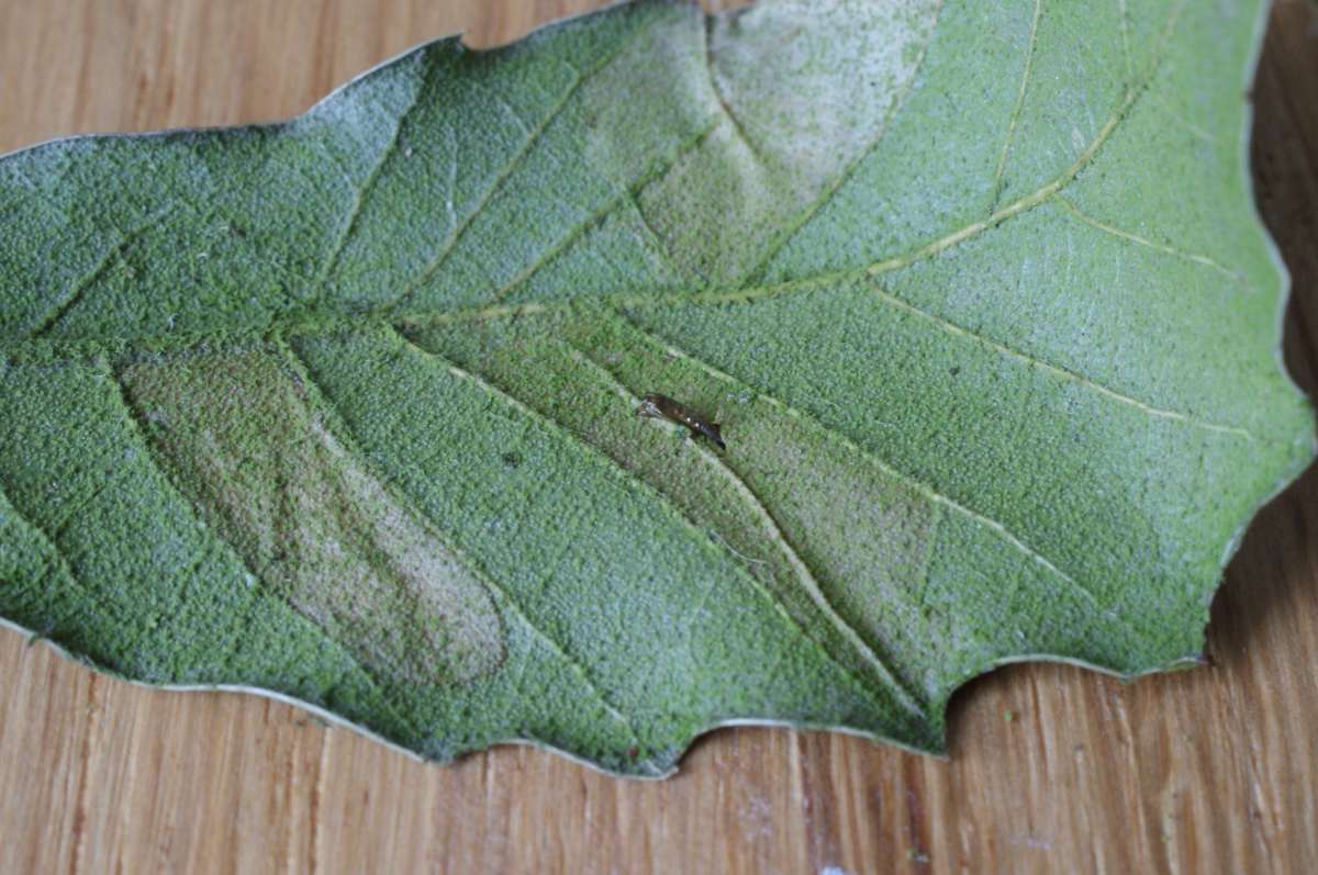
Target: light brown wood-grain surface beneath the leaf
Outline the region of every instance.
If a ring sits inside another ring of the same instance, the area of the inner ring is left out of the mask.
[[[590,0],[0,0],[0,150],[302,111],[422,40]],[[1263,213],[1318,380],[1318,16],[1255,92]],[[3,229],[0,229],[3,233]],[[502,747],[423,766],[295,708],[94,675],[0,631],[0,871],[1304,871],[1318,859],[1318,470],[1259,517],[1215,665],[1122,685],[1017,665],[958,693],[949,760],[722,730],[658,784]],[[1311,871],[1311,870],[1310,870]]]

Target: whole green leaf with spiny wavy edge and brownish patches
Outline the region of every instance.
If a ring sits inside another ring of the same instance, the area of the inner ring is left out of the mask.
[[[1314,452],[1260,5],[641,1],[12,154],[0,614],[630,775],[738,721],[941,750],[1014,660],[1193,663]]]

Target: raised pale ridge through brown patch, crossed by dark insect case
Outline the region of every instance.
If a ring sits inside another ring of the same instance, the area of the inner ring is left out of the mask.
[[[630,325],[630,323],[627,324]],[[612,383],[618,394],[622,395],[629,403],[633,406],[641,403],[641,399],[631,394],[626,386],[618,382],[612,372],[590,358],[587,353],[575,347],[569,347],[569,354],[577,364],[592,370],[600,380]],[[666,428],[664,423],[659,419],[647,418],[646,422],[652,423],[656,427]],[[783,534],[778,521],[774,519],[774,514],[764,506],[764,502],[760,501],[759,495],[757,495],[750,485],[735,470],[733,470],[731,465],[729,465],[726,460],[720,459],[708,447],[700,444],[699,441],[693,441],[692,447],[700,456],[701,461],[709,465],[720,477],[725,478],[742,502],[751,509],[751,513],[759,519],[770,543],[776,544],[783,551],[783,555],[786,556],[787,563],[792,567],[792,571],[796,573],[801,588],[811,597],[811,601],[815,602],[815,606],[818,607],[818,610],[828,618],[833,629],[836,629],[838,634],[846,639],[846,643],[850,644],[857,654],[859,654],[861,659],[874,669],[874,672],[888,688],[888,692],[900,702],[903,708],[917,717],[925,717],[924,710],[920,708],[915,697],[902,685],[896,673],[879,658],[878,654],[874,652],[870,644],[861,638],[861,634],[850,623],[847,623],[841,614],[837,613],[837,609],[824,593],[822,586],[820,586],[818,580],[815,577],[813,572],[811,572],[809,565],[805,564],[805,560],[803,560],[800,553],[796,552],[796,548],[792,547],[789,540],[787,540],[787,536]],[[728,547],[728,550],[733,553],[737,553],[730,544],[725,543],[725,547]],[[741,553],[737,555],[741,556]]]

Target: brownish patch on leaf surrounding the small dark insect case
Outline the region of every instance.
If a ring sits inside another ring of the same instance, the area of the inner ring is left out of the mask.
[[[891,692],[894,676],[938,694],[956,621],[929,604],[941,593],[927,580],[938,523],[928,495],[617,316],[587,324],[532,315],[416,332],[414,341],[552,415],[663,493],[867,683]],[[666,418],[637,416],[652,390],[720,420],[726,448]]]

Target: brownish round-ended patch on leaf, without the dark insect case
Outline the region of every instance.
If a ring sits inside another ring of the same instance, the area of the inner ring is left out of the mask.
[[[357,659],[414,684],[498,667],[484,582],[335,438],[282,352],[174,354],[121,380],[202,518]]]

